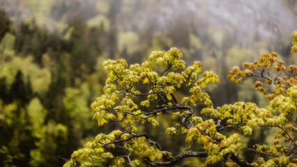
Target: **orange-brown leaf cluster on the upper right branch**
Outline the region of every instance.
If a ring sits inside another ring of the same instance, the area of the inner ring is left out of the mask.
[[[296,34],[296,32],[294,33]],[[243,70],[234,67],[228,74],[231,82],[241,84],[245,77],[258,77],[265,81],[255,81],[254,87],[264,93],[266,100],[272,100],[277,95],[285,95],[286,86],[296,86],[296,65],[284,66],[284,61],[277,59],[277,54],[262,54],[254,63],[243,63]],[[269,85],[275,85],[273,91]]]

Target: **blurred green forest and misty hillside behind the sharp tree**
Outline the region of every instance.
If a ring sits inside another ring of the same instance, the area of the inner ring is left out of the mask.
[[[178,47],[186,63],[201,61],[220,76],[207,89],[215,106],[264,106],[252,80],[236,86],[227,72],[271,51],[296,65],[296,28],[294,0],[0,0],[0,166],[62,166],[90,138],[117,126],[98,127],[89,107],[102,93],[107,58],[140,63],[151,51]],[[162,121],[153,139],[178,145],[158,138],[169,124]],[[249,140],[272,142],[269,131]],[[197,164],[204,162],[179,166]]]

